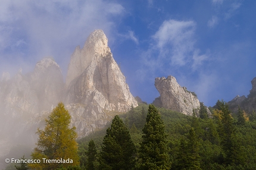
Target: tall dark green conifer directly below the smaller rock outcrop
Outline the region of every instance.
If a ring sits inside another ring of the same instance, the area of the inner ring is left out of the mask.
[[[140,169],[170,169],[167,134],[160,114],[154,105],[149,105],[146,124],[143,128],[139,151]]]

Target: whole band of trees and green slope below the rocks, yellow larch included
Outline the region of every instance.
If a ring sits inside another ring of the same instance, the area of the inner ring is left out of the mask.
[[[38,130],[32,158],[70,158],[72,164],[20,165],[16,169],[256,169],[255,112],[232,113],[218,100],[188,116],[154,105],[115,115],[107,130],[76,143],[63,103]],[[22,166],[22,167],[21,167]]]

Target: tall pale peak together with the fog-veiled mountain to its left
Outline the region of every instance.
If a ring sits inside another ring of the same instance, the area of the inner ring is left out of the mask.
[[[53,58],[43,58],[32,73],[2,74],[0,156],[16,144],[32,149],[36,129],[43,128],[58,102],[64,102],[70,112],[71,126],[76,126],[79,138],[105,127],[113,118],[111,112],[118,114],[138,106],[102,30],[95,30],[82,49],[74,50],[66,80],[64,83]]]

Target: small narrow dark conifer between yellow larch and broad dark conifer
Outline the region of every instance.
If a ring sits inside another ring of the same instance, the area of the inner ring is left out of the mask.
[[[96,169],[95,167],[95,162],[96,162],[96,155],[97,155],[97,151],[96,151],[96,146],[93,140],[89,141],[88,144],[88,152],[87,152],[87,164],[86,164],[86,169],[88,170],[94,170]]]

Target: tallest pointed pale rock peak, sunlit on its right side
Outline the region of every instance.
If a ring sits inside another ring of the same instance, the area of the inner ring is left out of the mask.
[[[93,128],[104,127],[110,111],[126,112],[132,105],[138,106],[102,30],[95,30],[82,49],[75,49],[66,80],[65,103],[77,104],[69,105],[71,115],[82,115],[79,134],[85,129],[88,134]]]

